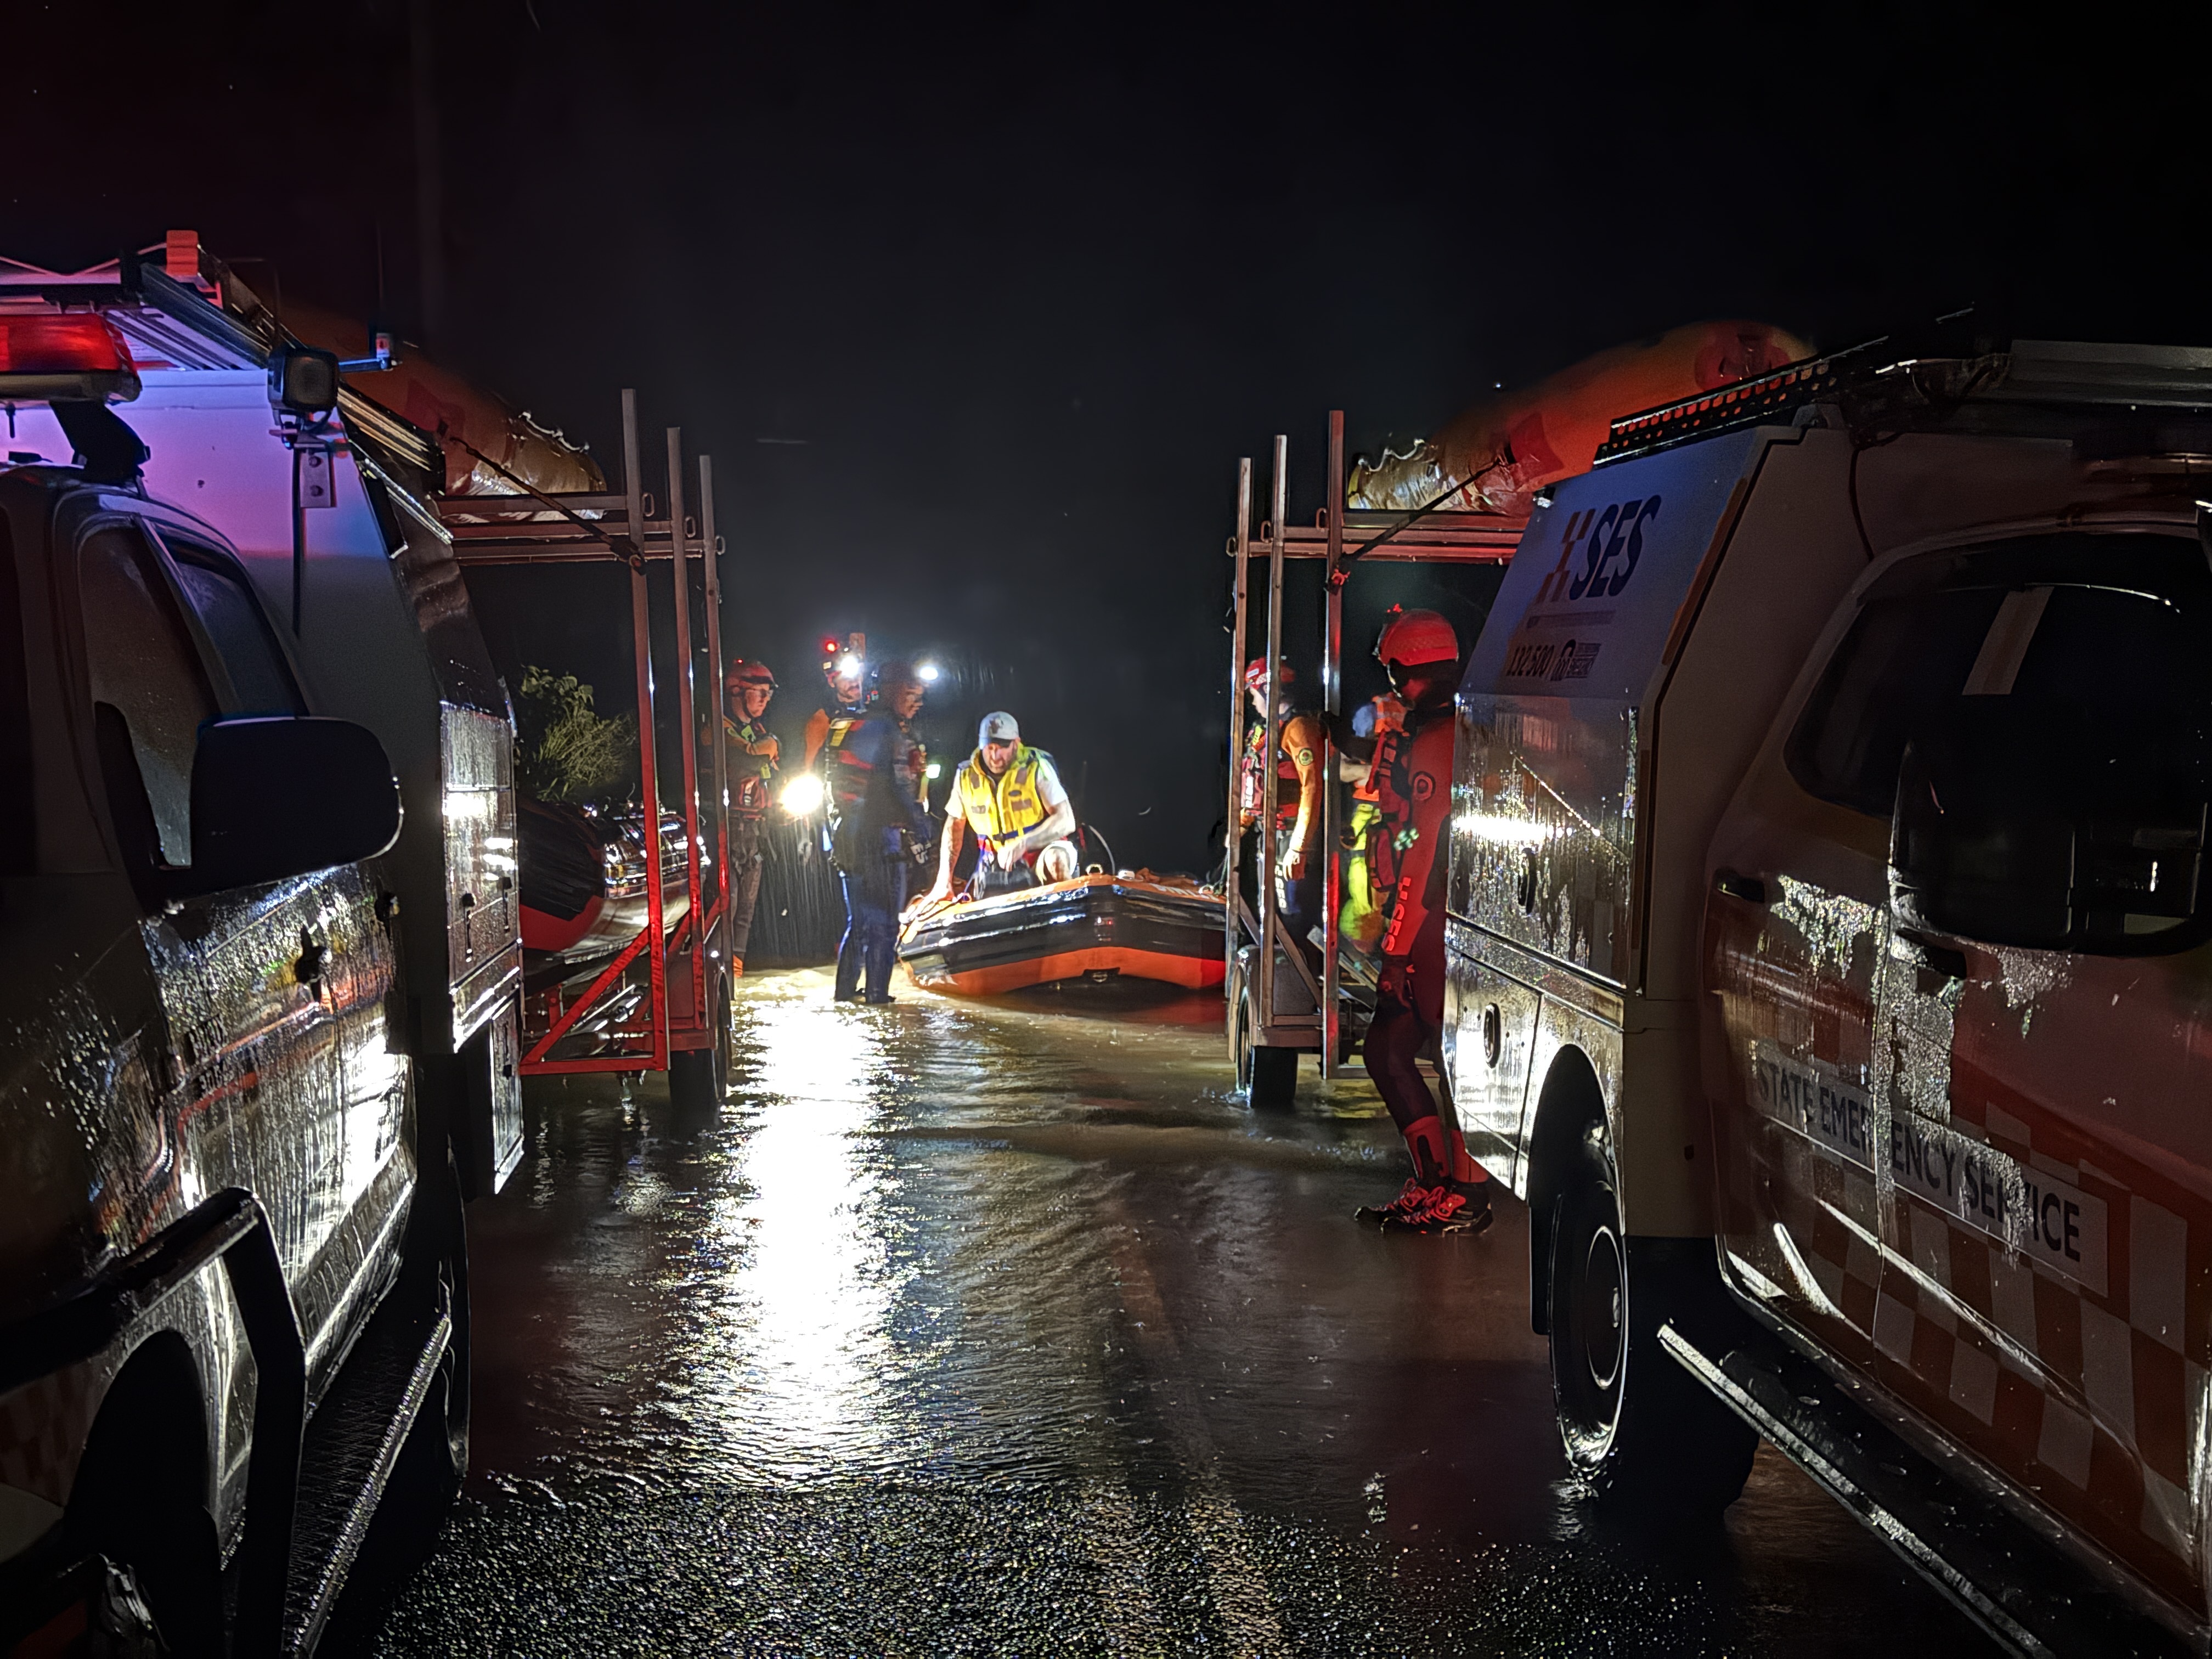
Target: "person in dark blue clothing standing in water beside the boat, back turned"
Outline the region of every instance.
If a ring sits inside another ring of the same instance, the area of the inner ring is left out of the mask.
[[[898,911],[907,878],[927,858],[929,807],[922,803],[922,745],[911,721],[922,708],[922,677],[909,664],[876,670],[867,714],[827,743],[836,832],[830,856],[845,885],[845,938],[836,953],[836,1000],[894,1002]]]

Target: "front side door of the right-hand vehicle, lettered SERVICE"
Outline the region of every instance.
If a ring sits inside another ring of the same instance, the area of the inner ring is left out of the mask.
[[[1936,573],[2000,604],[1960,692],[1913,723],[1966,768],[1916,765],[1900,790],[1958,814],[1986,768],[2006,843],[2070,821],[2068,916],[2037,938],[2033,889],[1995,909],[1966,894],[1978,914],[1953,905],[1940,929],[1893,876],[1893,973],[1942,980],[1947,1020],[1924,1024],[1924,1071],[1896,1060],[1885,1221],[1911,1318],[1878,1376],[2201,1608],[2212,573],[2188,529],[2161,529],[2011,538]]]

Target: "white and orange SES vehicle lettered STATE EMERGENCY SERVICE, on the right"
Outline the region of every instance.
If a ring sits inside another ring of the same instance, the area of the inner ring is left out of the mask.
[[[2212,1639],[2212,352],[1613,425],[1458,699],[1444,1062],[1573,1464],[1770,1438],[2020,1652]]]

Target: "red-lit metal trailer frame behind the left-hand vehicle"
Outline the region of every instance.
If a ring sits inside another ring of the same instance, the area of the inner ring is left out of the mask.
[[[451,442],[451,440],[449,440]],[[657,502],[644,489],[637,445],[637,394],[622,392],[622,493],[551,495],[524,484],[489,456],[462,445],[471,456],[515,484],[518,495],[438,495],[438,520],[453,538],[453,560],[467,571],[493,564],[606,564],[630,568],[630,653],[637,668],[637,785],[646,810],[646,925],[597,973],[573,1002],[560,987],[522,1000],[524,1075],[591,1071],[666,1071],[672,1053],[712,1048],[719,1000],[708,993],[723,962],[730,914],[730,757],[721,723],[721,538],[714,531],[714,465],[699,456],[699,518],[686,513],[684,431],[668,427],[666,518],[653,518]],[[712,690],[712,794],[701,801],[697,697],[692,688],[690,566],[699,557],[706,599],[706,653]],[[681,823],[684,891],[688,909],[670,933],[661,878],[659,761],[655,757],[653,608],[646,562],[668,560],[675,595],[675,648],[679,668],[677,726],[684,732]],[[712,825],[714,849],[701,860],[701,830]],[[701,863],[712,865],[701,874]],[[712,891],[703,891],[710,887]],[[701,900],[706,907],[701,907]],[[593,1011],[606,1011],[644,960],[646,995],[604,1033],[608,1053],[557,1057],[553,1048]],[[670,964],[681,969],[670,993]],[[723,964],[723,973],[728,967]],[[681,1006],[677,1006],[681,1004]]]

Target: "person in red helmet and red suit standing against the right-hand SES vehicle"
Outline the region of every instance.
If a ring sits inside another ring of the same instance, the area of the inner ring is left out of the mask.
[[[1491,1225],[1489,1175],[1460,1130],[1438,1117],[1416,1066],[1444,1029],[1444,834],[1460,639],[1436,611],[1394,608],[1376,657],[1405,714],[1402,723],[1378,721],[1369,761],[1380,823],[1369,838],[1367,874],[1383,909],[1383,960],[1363,1057],[1405,1137],[1413,1175],[1396,1199],[1356,1214],[1398,1232],[1482,1232]],[[1358,754],[1365,743],[1352,739],[1345,748]]]

